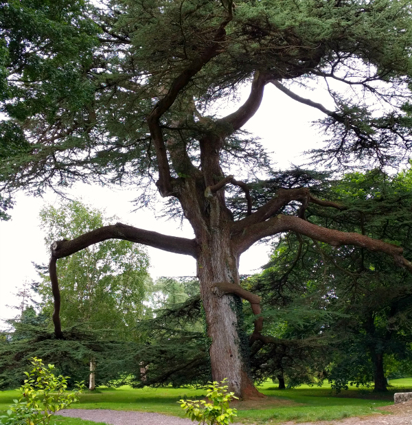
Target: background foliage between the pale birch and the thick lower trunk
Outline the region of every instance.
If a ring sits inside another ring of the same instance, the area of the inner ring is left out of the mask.
[[[142,369],[132,378],[133,386],[177,387],[211,379],[198,288],[192,277],[161,277],[152,287],[150,303],[155,301],[158,310],[137,327],[146,339],[135,354]]]

